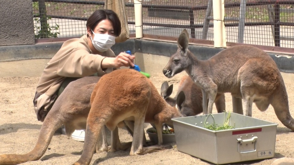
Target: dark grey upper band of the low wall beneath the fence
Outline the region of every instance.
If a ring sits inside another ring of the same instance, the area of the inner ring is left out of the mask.
[[[0,46],[0,62],[16,61],[38,58],[52,58],[53,55],[59,50],[62,43],[46,43],[35,45],[22,45],[22,46]],[[190,45],[189,50],[201,60],[211,58],[216,53],[223,50],[223,48],[213,48],[206,46]],[[134,52],[148,53],[154,55],[163,55],[170,57],[177,51],[176,43],[166,43],[158,41],[147,40],[133,40],[130,39],[124,43],[116,43],[112,50],[116,55],[120,52],[131,50]],[[294,73],[294,56],[283,54],[269,53],[273,58],[278,68],[282,72]]]

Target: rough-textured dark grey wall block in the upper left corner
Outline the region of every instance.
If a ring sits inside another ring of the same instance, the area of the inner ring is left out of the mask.
[[[31,0],[0,0],[0,46],[34,44]]]

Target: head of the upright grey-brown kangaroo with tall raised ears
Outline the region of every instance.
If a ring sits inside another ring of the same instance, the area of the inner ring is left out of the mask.
[[[189,51],[188,45],[189,34],[188,31],[184,29],[178,38],[177,52],[170,57],[166,67],[162,70],[166,77],[171,78],[174,75],[181,73],[190,65],[191,60],[187,57]]]

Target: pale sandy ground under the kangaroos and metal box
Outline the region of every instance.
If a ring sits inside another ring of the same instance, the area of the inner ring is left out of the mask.
[[[291,82],[293,75],[283,73],[292,116],[294,116],[294,83]],[[34,148],[42,124],[36,119],[32,101],[38,80],[39,77],[0,78],[0,154],[25,154]],[[165,80],[168,80],[170,84],[173,83],[174,89],[177,89],[180,76],[176,75],[168,79],[163,75],[153,75],[151,80],[158,91]],[[175,92],[176,90],[172,96]],[[226,110],[232,110],[230,94],[226,94]],[[215,107],[213,113],[216,113]],[[294,132],[287,129],[277,119],[273,108],[270,106],[267,111],[260,112],[253,105],[253,117],[278,123],[275,157],[238,164],[271,164],[277,158],[294,158]],[[150,127],[149,124],[146,129],[148,127]],[[132,141],[131,136],[125,130],[120,129],[119,134],[121,142]],[[147,134],[146,137],[148,139]],[[65,135],[56,132],[41,159],[24,164],[72,164],[81,156],[83,144],[83,142],[68,139]],[[177,151],[176,143],[172,145],[173,149],[141,156],[129,156],[129,150],[115,153],[101,152],[93,155],[91,164],[211,164]]]

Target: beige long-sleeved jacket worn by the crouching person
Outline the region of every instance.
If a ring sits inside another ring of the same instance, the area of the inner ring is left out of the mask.
[[[105,71],[101,69],[101,62],[105,57],[115,57],[115,54],[111,49],[101,55],[93,54],[88,46],[87,35],[65,41],[47,63],[37,85],[34,98],[37,116],[40,110],[46,111],[55,100],[55,93],[66,77],[86,77],[94,73],[102,76],[113,71],[113,68]]]

